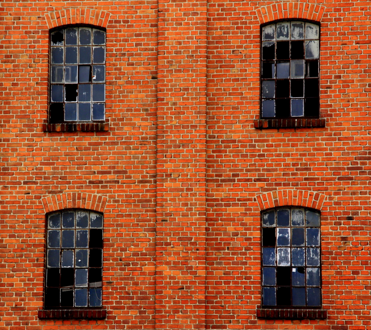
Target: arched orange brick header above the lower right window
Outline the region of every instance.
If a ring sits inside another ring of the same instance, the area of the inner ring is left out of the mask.
[[[278,206],[303,206],[321,210],[326,196],[319,192],[308,190],[276,190],[257,195],[256,199],[260,210],[276,208]]]

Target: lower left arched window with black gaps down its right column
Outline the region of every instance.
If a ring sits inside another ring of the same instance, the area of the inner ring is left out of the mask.
[[[47,227],[45,308],[101,307],[103,216],[57,212]]]

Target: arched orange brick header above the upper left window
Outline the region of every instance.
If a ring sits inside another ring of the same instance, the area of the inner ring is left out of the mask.
[[[111,14],[90,8],[66,8],[45,14],[49,29],[68,24],[91,24],[106,27]]]

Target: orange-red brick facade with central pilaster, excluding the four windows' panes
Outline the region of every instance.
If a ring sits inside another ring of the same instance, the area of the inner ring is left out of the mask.
[[[370,1],[1,3],[0,329],[371,329]],[[260,113],[260,27],[321,26],[320,113]],[[106,29],[106,120],[50,124],[50,29]],[[321,212],[322,307],[261,308],[260,212]],[[103,310],[43,310],[46,215],[104,213]]]

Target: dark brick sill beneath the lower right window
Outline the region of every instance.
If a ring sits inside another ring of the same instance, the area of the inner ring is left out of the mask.
[[[256,310],[257,318],[284,318],[286,320],[324,320],[327,318],[327,310],[323,309],[269,309]]]

